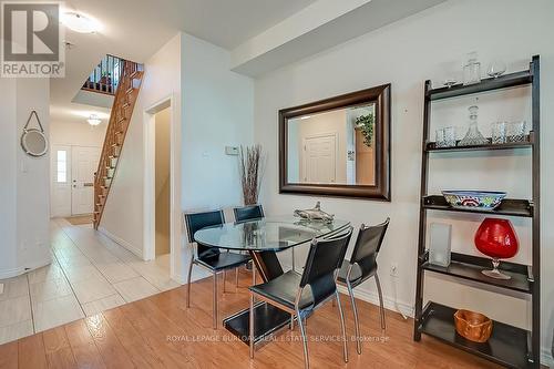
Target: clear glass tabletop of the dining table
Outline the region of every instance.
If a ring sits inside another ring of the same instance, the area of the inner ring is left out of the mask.
[[[194,234],[194,239],[206,246],[225,249],[278,252],[312,238],[340,233],[349,225],[350,222],[340,219],[325,223],[294,216],[268,217],[203,228]]]

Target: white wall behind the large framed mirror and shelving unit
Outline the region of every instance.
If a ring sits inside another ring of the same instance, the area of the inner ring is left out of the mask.
[[[432,79],[437,85],[454,71],[460,71],[464,54],[470,51],[479,52],[483,70],[494,57],[505,60],[510,71],[522,70],[527,68],[533,54],[541,54],[542,353],[546,360],[554,326],[554,287],[550,283],[554,279],[554,230],[550,226],[554,224],[554,199],[547,195],[554,177],[554,170],[548,162],[554,155],[554,126],[550,124],[554,121],[554,107],[550,103],[554,99],[554,48],[552,38],[547,37],[554,34],[551,19],[553,13],[554,2],[547,0],[453,0],[256,80],[255,140],[269,156],[261,192],[261,203],[267,213],[290,214],[295,208],[312,206],[316,199],[312,196],[278,194],[277,111],[392,83],[392,202],[322,198],[322,207],[355,225],[362,222],[375,224],[387,216],[391,217],[386,244],[379,257],[380,275],[388,305],[392,307],[397,295],[400,307],[409,312],[407,310],[413,306],[416,291],[424,80]],[[486,101],[488,98],[483,98],[483,127],[499,117],[527,117],[529,100],[511,92],[504,96],[514,99],[515,103],[494,110],[490,107],[493,104]],[[455,125],[466,125],[468,103],[462,101],[448,113],[449,120],[455,122]],[[444,109],[448,111],[448,107]],[[447,114],[444,110],[441,111]],[[441,185],[463,187],[464,184],[471,184],[476,187],[502,187],[515,195],[527,194],[530,183],[520,174],[526,173],[529,155],[527,162],[520,155],[505,158],[505,165],[515,171],[515,175],[496,177],[496,182],[490,181],[500,171],[490,170],[497,167],[502,156],[499,154],[485,156],[483,162],[479,156],[469,155],[450,162],[450,166],[440,162],[434,165],[439,175],[449,178],[448,184]],[[472,172],[473,164],[489,172],[484,176],[481,172]],[[470,222],[461,226],[462,218]],[[471,239],[482,217],[454,218],[454,247],[473,253]],[[516,260],[524,263],[530,256],[529,223],[519,221],[516,227],[522,238],[522,252]],[[462,238],[465,239],[464,243],[460,242]],[[297,253],[299,254],[301,253]],[[297,260],[297,264],[300,263],[301,260]],[[398,264],[398,279],[389,275],[392,264]],[[432,288],[431,284],[440,286]],[[438,301],[485,311],[493,318],[515,321],[519,326],[527,326],[530,322],[530,304],[519,298],[501,298],[496,294],[481,293],[471,286],[439,278],[430,278],[425,288],[425,296]],[[375,300],[372,281],[361,286],[360,296]]]

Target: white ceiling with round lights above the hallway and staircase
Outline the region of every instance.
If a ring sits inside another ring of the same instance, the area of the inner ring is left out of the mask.
[[[88,113],[106,113],[105,109],[71,102],[106,53],[144,62],[178,31],[230,50],[312,2],[315,0],[66,0],[66,11],[96,20],[101,30],[94,34],[65,31],[65,40],[74,48],[65,51],[65,78],[51,80],[51,121],[85,124],[83,116]]]

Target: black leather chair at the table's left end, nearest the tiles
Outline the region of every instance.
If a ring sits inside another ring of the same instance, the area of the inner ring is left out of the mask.
[[[206,227],[219,226],[225,223],[225,217],[222,211],[185,214],[186,230],[188,234],[188,242],[191,244],[195,243],[194,234]],[[238,268],[242,265],[247,264],[250,260],[249,255],[240,255],[234,253],[222,253],[219,248],[209,247],[207,245],[202,245],[196,243],[196,255],[192,253],[191,265],[188,267],[188,279],[187,279],[187,295],[186,295],[186,307],[191,307],[191,277],[193,273],[193,265],[197,265],[205,269],[208,269],[214,275],[214,329],[217,328],[217,273],[224,271],[223,288],[225,291],[225,271],[233,268]],[[238,269],[237,269],[238,273]],[[237,274],[238,275],[238,274]]]

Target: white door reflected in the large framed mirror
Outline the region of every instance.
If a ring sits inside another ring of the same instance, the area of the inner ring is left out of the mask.
[[[335,134],[304,140],[304,182],[335,183],[337,177],[336,143]]]

